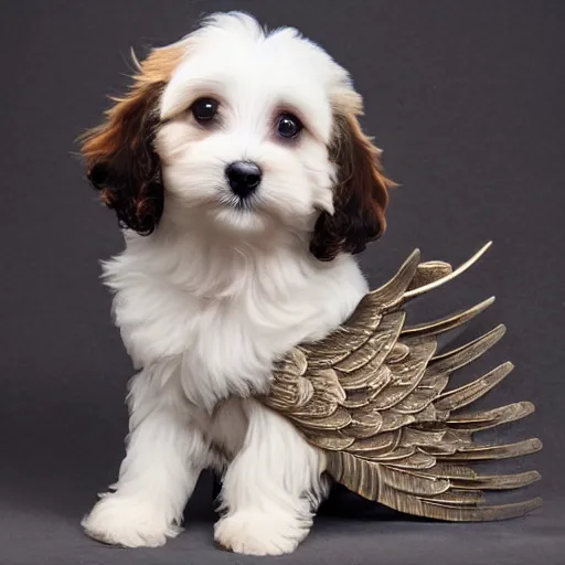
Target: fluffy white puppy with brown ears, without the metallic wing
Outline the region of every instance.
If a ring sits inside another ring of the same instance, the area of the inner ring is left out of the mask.
[[[104,274],[137,371],[92,537],[174,537],[205,468],[222,473],[220,545],[277,555],[307,536],[323,457],[253,396],[367,291],[353,256],[385,228],[390,181],[361,109],[348,72],[297,30],[227,13],[153,50],[87,132],[88,178],[124,228]]]

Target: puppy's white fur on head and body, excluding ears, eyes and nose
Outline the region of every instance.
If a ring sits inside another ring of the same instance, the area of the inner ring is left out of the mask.
[[[225,470],[216,541],[289,553],[327,492],[323,456],[249,396],[268,390],[279,355],[326,335],[366,291],[351,256],[321,263],[308,249],[319,211],[332,210],[331,104],[349,83],[296,31],[266,36],[241,14],[216,17],[183,43],[161,103],[161,223],[148,237],[126,233],[124,253],[105,264],[139,372],[115,491],[83,525],[107,543],[161,545],[178,534],[201,470],[214,467]],[[224,100],[223,128],[205,136],[181,111],[202,94]],[[303,117],[295,145],[269,132],[279,105]],[[232,206],[224,180],[238,159],[264,170],[248,211]]]

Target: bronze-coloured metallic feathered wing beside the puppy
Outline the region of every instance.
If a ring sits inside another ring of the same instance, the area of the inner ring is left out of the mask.
[[[445,319],[406,326],[403,306],[454,279],[487,250],[452,270],[419,263],[415,250],[383,287],[369,292],[351,318],[324,340],[295,348],[275,371],[263,402],[294,422],[326,454],[327,472],[348,489],[387,507],[438,520],[489,521],[526,514],[541,499],[488,505],[483,491],[525,487],[536,471],[478,475],[469,463],[532,454],[539,439],[478,445],[473,434],[534,412],[529,402],[461,414],[513,369],[503,363],[446,391],[450,375],[504,334],[438,354],[437,335],[483,311],[493,298]]]

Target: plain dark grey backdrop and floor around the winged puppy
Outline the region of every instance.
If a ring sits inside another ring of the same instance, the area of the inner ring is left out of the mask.
[[[362,257],[373,285],[415,246],[457,263],[494,241],[414,316],[495,294],[469,334],[501,320],[509,333],[466,375],[512,359],[518,369],[487,404],[534,401],[539,412],[502,433],[545,444],[514,463],[544,476],[531,491],[546,505],[525,520],[431,523],[344,497],[278,561],[563,563],[565,2],[515,0],[1,2],[0,563],[263,562],[213,546],[210,478],[188,509],[188,531],[164,548],[106,547],[78,525],[115,479],[131,367],[97,279],[98,259],[121,239],[83,180],[74,138],[127,84],[130,45],[145,53],[203,12],[234,8],[300,28],[364,95],[363,125],[403,185],[386,236]]]

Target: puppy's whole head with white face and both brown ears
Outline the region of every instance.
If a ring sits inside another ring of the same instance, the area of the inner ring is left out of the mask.
[[[361,97],[296,30],[215,15],[154,50],[135,81],[83,145],[89,179],[126,227],[284,230],[307,234],[321,260],[384,231],[390,182],[359,126]]]

